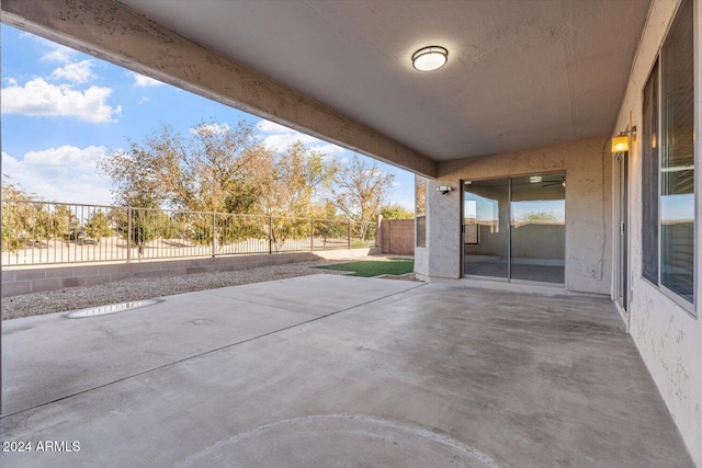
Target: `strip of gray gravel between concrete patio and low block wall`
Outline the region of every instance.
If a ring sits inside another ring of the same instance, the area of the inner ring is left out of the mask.
[[[377,260],[376,256],[373,259]],[[199,273],[162,278],[125,279],[98,286],[81,286],[8,296],[2,298],[2,320],[44,313],[105,306],[129,300],[151,299],[240,284],[260,283],[314,274],[343,274],[310,266],[344,263],[353,260],[317,260],[286,265],[259,266],[236,272]]]

